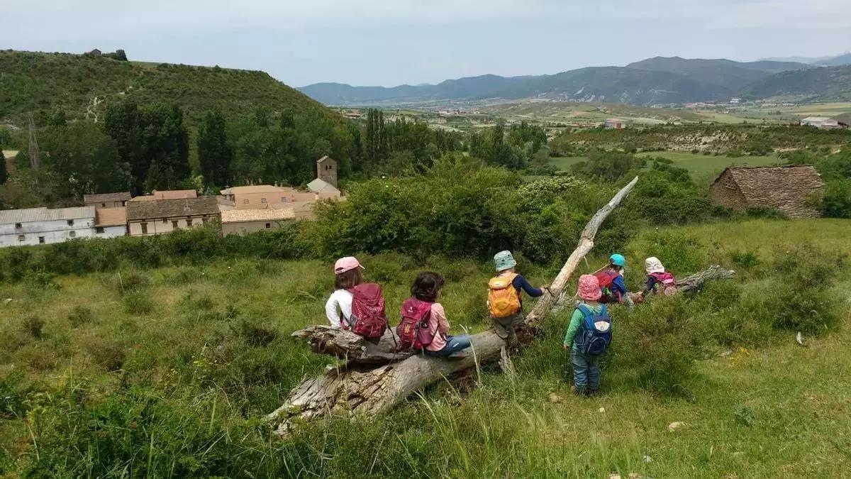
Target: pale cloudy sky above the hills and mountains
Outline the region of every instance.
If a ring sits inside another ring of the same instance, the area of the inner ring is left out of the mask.
[[[0,48],[264,70],[283,82],[436,83],[646,57],[851,49],[851,0],[17,0]]]

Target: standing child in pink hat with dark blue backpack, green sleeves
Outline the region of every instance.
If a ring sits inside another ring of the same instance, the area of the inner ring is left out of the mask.
[[[574,391],[592,395],[600,389],[600,355],[611,341],[611,318],[606,305],[600,303],[603,291],[592,274],[580,276],[574,314],[564,334],[563,348],[570,349],[570,364],[574,368]],[[590,325],[590,326],[589,326]],[[589,327],[593,331],[589,331]]]

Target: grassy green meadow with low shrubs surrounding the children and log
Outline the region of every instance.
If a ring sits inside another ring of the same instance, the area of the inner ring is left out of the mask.
[[[650,228],[626,246],[632,289],[650,254],[677,275],[711,263],[738,274],[697,297],[614,309],[602,395],[570,393],[566,311],[513,355],[514,374],[486,366],[378,420],[326,418],[288,439],[260,418],[333,362],[288,337],[323,323],[328,263],[224,257],[2,283],[0,475],[842,476],[847,231],[842,220]],[[487,327],[490,263],[362,260],[391,322],[431,268],[448,280],[454,329]],[[521,268],[541,283],[557,264]]]

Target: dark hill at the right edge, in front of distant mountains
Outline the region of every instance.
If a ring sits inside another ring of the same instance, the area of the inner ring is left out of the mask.
[[[823,66],[780,72],[750,84],[740,94],[748,99],[773,98],[795,101],[851,100],[851,66]]]

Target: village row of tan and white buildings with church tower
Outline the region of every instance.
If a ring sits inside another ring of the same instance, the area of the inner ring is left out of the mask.
[[[218,228],[222,235],[281,228],[313,217],[321,200],[345,200],[337,189],[337,162],[317,160],[306,190],[275,185],[225,188],[198,196],[194,189],[83,195],[83,205],[0,211],[0,247],[49,245],[69,240],[151,236],[187,228]]]

